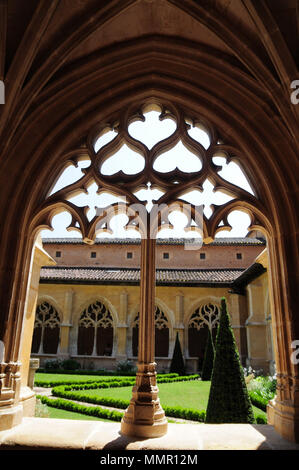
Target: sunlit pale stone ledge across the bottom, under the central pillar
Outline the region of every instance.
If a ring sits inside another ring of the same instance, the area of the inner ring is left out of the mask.
[[[119,423],[24,418],[0,432],[0,450],[299,450],[269,425],[170,423],[165,436],[143,440],[119,430]]]

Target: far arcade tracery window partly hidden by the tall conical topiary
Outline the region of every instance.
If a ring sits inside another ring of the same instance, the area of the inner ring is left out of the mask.
[[[199,369],[202,365],[208,331],[212,332],[215,342],[220,310],[215,304],[204,304],[191,315],[188,324],[189,356],[198,357]]]

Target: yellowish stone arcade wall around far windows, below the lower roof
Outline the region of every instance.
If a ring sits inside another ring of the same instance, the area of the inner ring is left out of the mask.
[[[249,317],[246,297],[233,294],[228,288],[212,287],[156,287],[156,305],[164,312],[169,327],[168,357],[156,358],[158,370],[167,370],[172,358],[176,333],[179,333],[182,352],[186,359],[189,372],[197,369],[197,359],[190,357],[188,351],[188,323],[195,310],[204,304],[220,304],[225,296],[228,301],[229,312],[232,318],[236,342],[243,364],[257,367],[263,366],[268,370],[269,363],[266,351],[263,350],[266,342],[266,330],[260,329],[260,335],[251,335],[251,325],[245,325]],[[79,356],[77,351],[78,322],[83,310],[95,301],[101,301],[111,312],[114,327],[114,341],[111,357],[107,356]],[[118,361],[131,359],[132,355],[132,323],[139,311],[139,287],[121,285],[68,285],[68,284],[40,284],[38,303],[47,301],[57,310],[60,320],[60,343],[57,356],[33,355],[39,357],[41,365],[45,361],[60,358],[73,358],[84,368],[114,369]],[[246,330],[247,334],[246,337]],[[247,342],[249,341],[249,346]],[[260,355],[252,351],[263,350],[263,361]],[[251,356],[248,359],[248,351]]]

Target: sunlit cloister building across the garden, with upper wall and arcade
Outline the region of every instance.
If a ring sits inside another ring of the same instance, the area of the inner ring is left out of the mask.
[[[32,356],[42,365],[72,358],[85,369],[136,361],[140,240],[44,239],[44,249],[56,266],[41,270]],[[158,239],[156,259],[158,371],[169,369],[176,333],[187,370],[200,368],[224,296],[243,365],[273,372],[264,240],[218,238],[188,250],[183,240]]]

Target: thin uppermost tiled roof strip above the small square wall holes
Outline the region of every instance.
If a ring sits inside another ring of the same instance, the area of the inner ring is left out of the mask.
[[[183,238],[157,238],[157,245],[184,245],[185,243],[191,243],[193,239]],[[74,245],[85,245],[81,238],[43,238],[43,244],[74,244]],[[95,240],[96,245],[105,244],[124,244],[124,245],[139,245],[139,238],[97,238]],[[250,237],[219,237],[215,238],[209,245],[265,245],[265,241],[260,238]],[[207,246],[207,245],[206,245]]]

